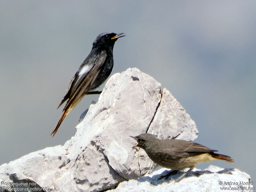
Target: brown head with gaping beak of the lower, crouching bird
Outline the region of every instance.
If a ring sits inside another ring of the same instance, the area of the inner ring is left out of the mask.
[[[130,136],[132,137],[132,136]],[[132,137],[133,139],[135,139],[137,141],[137,144],[135,146],[133,146],[132,148],[134,147],[140,147],[140,148],[147,148],[147,147],[150,147],[150,143],[154,143],[154,141],[158,140],[156,135],[152,135],[152,134],[149,134],[149,133],[143,133],[141,135],[138,135],[136,137]]]

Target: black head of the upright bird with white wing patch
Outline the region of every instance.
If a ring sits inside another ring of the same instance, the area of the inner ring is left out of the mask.
[[[95,41],[92,44],[92,48],[95,47],[103,47],[103,48],[112,48],[114,47],[114,44],[116,40],[120,37],[125,36],[125,33],[101,33],[97,36]]]

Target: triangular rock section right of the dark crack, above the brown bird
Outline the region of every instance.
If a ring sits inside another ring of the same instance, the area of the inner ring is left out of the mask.
[[[198,131],[195,122],[186,113],[186,110],[164,88],[161,102],[156,111],[154,121],[150,124],[148,133],[157,135],[160,139],[195,140]]]

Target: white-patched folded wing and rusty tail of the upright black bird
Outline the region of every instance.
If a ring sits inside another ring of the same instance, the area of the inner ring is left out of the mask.
[[[87,58],[90,58],[89,56]],[[56,134],[65,116],[68,115],[70,111],[72,111],[72,109],[82,99],[84,94],[86,94],[89,91],[88,89],[97,78],[100,69],[106,60],[106,57],[107,52],[101,51],[100,53],[96,54],[96,57],[93,57],[92,59],[86,58],[84,60],[84,63],[79,67],[78,71],[76,72],[75,76],[72,78],[68,86],[66,95],[60,102],[61,105],[68,99],[68,102],[63,109],[63,114],[60,117],[60,120],[57,123],[55,129],[51,133],[51,135],[53,134],[52,137]]]

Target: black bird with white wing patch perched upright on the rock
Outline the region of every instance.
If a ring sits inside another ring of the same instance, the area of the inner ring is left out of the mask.
[[[101,93],[101,91],[90,91],[99,87],[110,75],[114,64],[114,44],[118,38],[123,36],[125,36],[124,33],[101,33],[93,42],[92,51],[73,76],[67,93],[60,102],[59,107],[68,100],[58,124],[52,131],[52,137],[56,134],[65,116],[76,107],[84,95]]]

